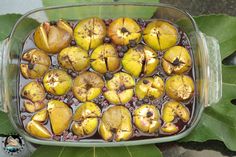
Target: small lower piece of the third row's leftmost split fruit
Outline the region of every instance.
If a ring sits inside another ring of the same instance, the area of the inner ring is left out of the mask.
[[[32,102],[30,100],[24,101],[24,107],[27,112],[33,113],[36,111],[39,111],[45,107],[45,102],[38,101],[38,102]]]

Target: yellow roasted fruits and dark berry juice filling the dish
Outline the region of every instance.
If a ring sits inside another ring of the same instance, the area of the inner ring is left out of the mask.
[[[191,123],[191,45],[169,21],[45,22],[25,40],[20,64],[19,112],[36,138],[138,140]]]

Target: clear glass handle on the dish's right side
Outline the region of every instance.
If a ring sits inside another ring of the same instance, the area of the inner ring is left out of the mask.
[[[203,44],[206,63],[206,107],[219,102],[222,97],[222,69],[220,46],[217,39],[206,34],[199,33]]]

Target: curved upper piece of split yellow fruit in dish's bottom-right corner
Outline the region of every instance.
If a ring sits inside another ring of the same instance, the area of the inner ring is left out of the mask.
[[[165,103],[162,109],[163,121],[172,122],[176,117],[179,117],[183,122],[188,122],[190,119],[189,110],[177,101]]]

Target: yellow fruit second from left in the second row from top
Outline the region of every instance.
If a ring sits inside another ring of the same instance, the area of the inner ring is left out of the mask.
[[[89,66],[88,52],[80,47],[64,48],[57,56],[61,67],[71,69],[73,71],[82,71]]]

